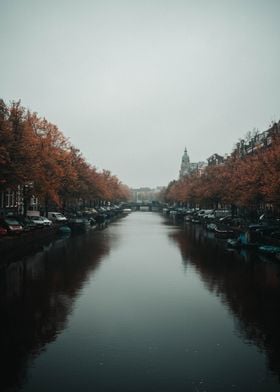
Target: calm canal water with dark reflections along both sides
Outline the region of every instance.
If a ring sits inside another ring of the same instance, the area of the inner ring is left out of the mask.
[[[1,391],[279,391],[280,269],[133,212],[0,270]]]

